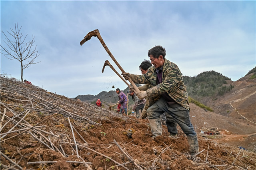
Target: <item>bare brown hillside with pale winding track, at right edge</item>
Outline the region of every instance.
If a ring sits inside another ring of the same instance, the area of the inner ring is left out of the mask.
[[[214,110],[214,113],[221,114],[228,118],[235,118],[248,124],[256,124],[256,68],[253,68],[246,76],[233,82],[225,80],[222,84],[230,90],[224,94],[203,96],[198,100]],[[200,95],[198,95],[200,96]]]

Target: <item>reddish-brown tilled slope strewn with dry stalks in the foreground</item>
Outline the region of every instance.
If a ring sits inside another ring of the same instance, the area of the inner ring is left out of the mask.
[[[256,154],[184,133],[152,140],[148,120],[119,115],[33,85],[1,78],[1,168],[37,170],[256,169]],[[192,108],[193,109],[193,108]],[[205,117],[205,121],[208,120]],[[6,136],[5,136],[6,135]]]

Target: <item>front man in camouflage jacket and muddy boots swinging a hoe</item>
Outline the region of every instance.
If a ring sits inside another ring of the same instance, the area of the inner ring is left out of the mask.
[[[134,83],[149,84],[148,90],[138,92],[137,96],[139,99],[147,97],[149,100],[150,107],[146,113],[153,138],[162,135],[160,115],[166,112],[166,119],[172,116],[186,134],[190,155],[195,156],[199,147],[196,132],[190,122],[188,92],[180,69],[165,56],[165,48],[155,46],[148,50],[148,57],[154,67],[150,67],[146,74],[135,75],[126,72],[122,75],[126,80],[130,77]]]

